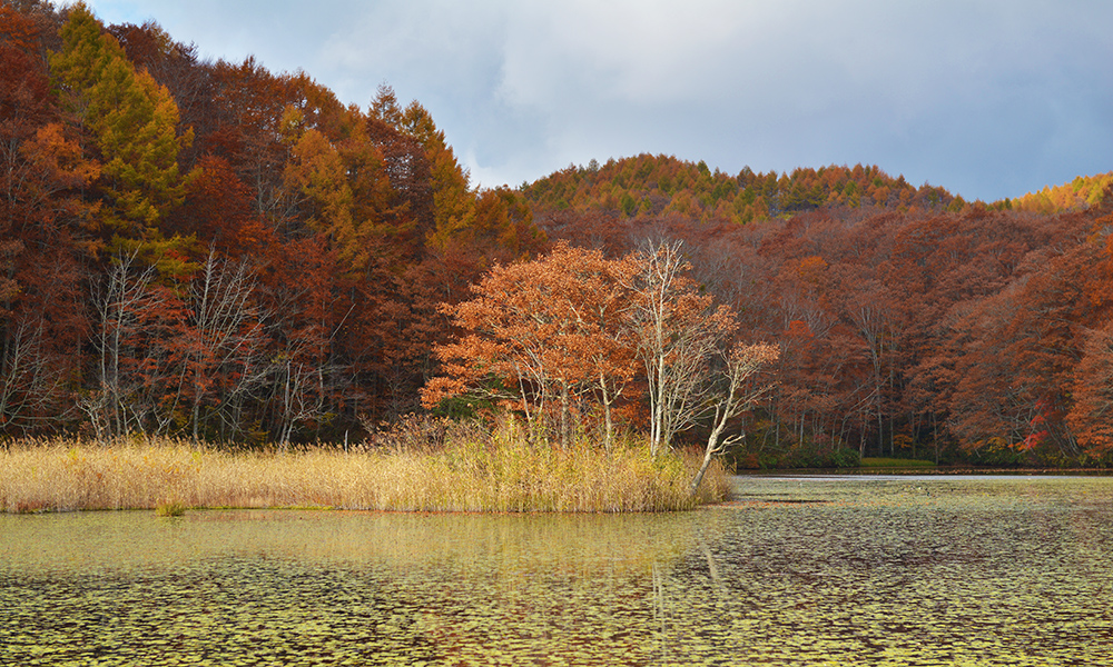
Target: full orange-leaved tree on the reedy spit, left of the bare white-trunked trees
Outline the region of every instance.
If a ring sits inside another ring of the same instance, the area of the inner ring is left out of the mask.
[[[444,307],[463,334],[437,348],[446,375],[426,385],[423,402],[494,399],[531,421],[551,420],[567,445],[573,418],[594,399],[609,446],[612,406],[633,376],[622,311],[634,270],[629,259],[564,243],[535,261],[495,267],[472,288],[475,298]]]

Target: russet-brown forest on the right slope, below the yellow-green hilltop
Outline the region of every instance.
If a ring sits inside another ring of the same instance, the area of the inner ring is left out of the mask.
[[[1109,461],[1113,215],[825,208],[751,222],[554,212],[551,238],[624,252],[683,239],[699,281],[778,385],[749,465],[915,455],[996,465]]]

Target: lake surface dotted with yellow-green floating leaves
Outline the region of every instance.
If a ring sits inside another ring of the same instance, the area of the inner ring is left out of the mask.
[[[623,516],[0,515],[0,665],[1113,665],[1113,479]]]

